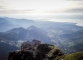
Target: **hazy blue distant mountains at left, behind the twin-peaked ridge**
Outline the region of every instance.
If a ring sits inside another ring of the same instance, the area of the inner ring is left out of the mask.
[[[16,27],[27,28],[34,23],[34,21],[27,19],[0,18],[0,32],[5,32]]]

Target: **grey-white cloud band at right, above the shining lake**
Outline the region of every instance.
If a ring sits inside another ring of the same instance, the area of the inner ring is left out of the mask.
[[[46,13],[83,13],[83,2],[73,3],[65,9],[50,9]]]

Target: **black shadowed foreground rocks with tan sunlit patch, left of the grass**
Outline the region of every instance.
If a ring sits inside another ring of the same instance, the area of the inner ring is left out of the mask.
[[[63,53],[57,47],[50,44],[40,44],[34,55],[33,51],[17,50],[10,52],[3,60],[53,60],[56,56]]]

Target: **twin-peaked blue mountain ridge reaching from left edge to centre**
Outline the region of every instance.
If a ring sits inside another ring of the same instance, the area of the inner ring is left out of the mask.
[[[47,36],[47,32],[37,28],[36,26],[30,26],[27,29],[22,27],[14,28],[4,33],[0,33],[0,39],[10,41],[39,39],[43,43],[50,42],[50,38]]]

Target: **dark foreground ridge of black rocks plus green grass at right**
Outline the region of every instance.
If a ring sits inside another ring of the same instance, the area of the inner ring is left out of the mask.
[[[63,54],[53,45],[40,44],[36,52],[16,50],[9,52],[2,60],[83,60],[83,52]]]

